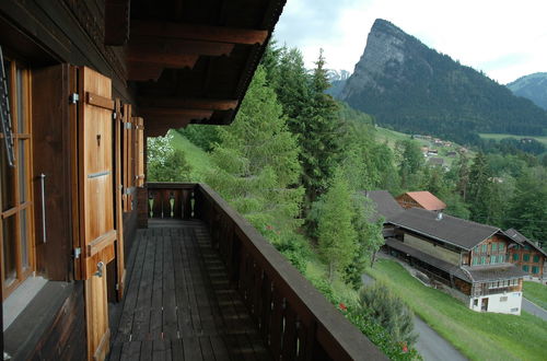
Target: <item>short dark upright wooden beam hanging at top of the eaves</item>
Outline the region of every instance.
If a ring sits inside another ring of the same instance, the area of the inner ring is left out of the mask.
[[[129,39],[130,0],[105,1],[105,45],[124,45]]]

